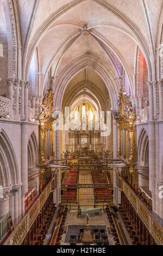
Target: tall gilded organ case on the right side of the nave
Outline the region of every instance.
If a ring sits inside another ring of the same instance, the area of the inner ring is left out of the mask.
[[[120,133],[120,150],[118,156],[127,163],[127,168],[123,168],[122,173],[130,186],[135,191],[138,190],[138,173],[135,169],[136,156],[136,125],[135,108],[132,107],[130,95],[121,88],[118,96],[118,107],[120,111],[115,115]]]

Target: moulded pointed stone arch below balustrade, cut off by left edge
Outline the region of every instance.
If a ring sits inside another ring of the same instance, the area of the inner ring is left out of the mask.
[[[18,184],[18,167],[14,149],[6,133],[0,132],[0,185],[8,187]]]

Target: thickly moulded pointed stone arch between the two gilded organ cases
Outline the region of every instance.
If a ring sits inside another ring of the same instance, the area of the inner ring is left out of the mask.
[[[111,106],[113,109],[116,109],[120,86],[115,82],[114,76],[111,74],[110,70],[104,66],[103,63],[91,57],[89,54],[84,54],[83,56],[75,59],[73,62],[69,63],[64,70],[61,71],[59,78],[56,79],[56,84],[54,87],[54,95],[56,99],[55,108],[61,109],[62,99],[68,83],[74,76],[86,68],[94,70],[102,78],[110,95]]]

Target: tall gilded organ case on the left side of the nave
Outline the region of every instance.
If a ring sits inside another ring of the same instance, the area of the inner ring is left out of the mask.
[[[40,167],[40,192],[51,179],[51,168],[47,164],[51,162],[55,153],[53,151],[53,122],[56,118],[52,117],[53,111],[53,83],[49,85],[48,93],[42,101],[43,111],[39,115],[39,167]]]

